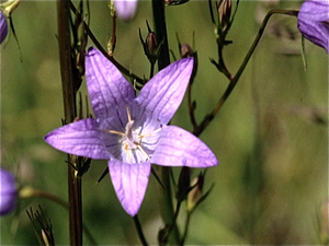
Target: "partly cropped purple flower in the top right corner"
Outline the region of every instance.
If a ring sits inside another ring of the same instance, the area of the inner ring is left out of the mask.
[[[297,19],[303,36],[329,52],[329,1],[305,1]]]

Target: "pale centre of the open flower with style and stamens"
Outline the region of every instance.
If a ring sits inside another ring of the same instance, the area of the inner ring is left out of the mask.
[[[143,139],[154,136],[158,133],[161,128],[158,128],[151,132],[148,132],[146,134],[139,134],[134,129],[134,120],[132,120],[131,113],[128,107],[127,108],[127,116],[128,116],[128,122],[125,127],[125,132],[116,131],[116,130],[106,130],[106,132],[112,134],[118,134],[121,136],[120,142],[123,147],[123,151],[126,152],[128,162],[132,163],[132,156],[137,156],[136,152],[139,152],[143,156],[143,160],[148,161],[150,160],[150,155],[143,149],[141,142]]]

